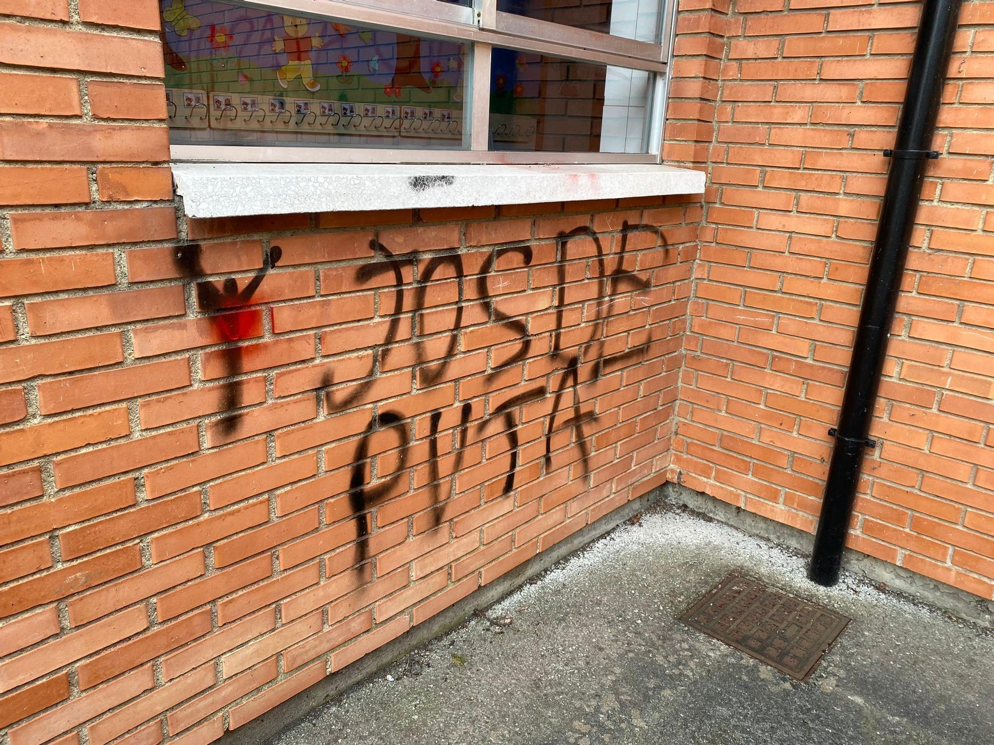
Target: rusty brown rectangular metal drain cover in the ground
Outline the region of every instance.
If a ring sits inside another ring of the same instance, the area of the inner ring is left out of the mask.
[[[805,680],[849,619],[733,572],[680,620],[746,655]]]

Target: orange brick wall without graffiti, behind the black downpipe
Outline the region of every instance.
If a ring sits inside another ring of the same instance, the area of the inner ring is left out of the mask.
[[[681,2],[667,155],[710,179],[671,478],[809,531],[919,8]],[[964,3],[849,539],[988,599],[992,53]]]

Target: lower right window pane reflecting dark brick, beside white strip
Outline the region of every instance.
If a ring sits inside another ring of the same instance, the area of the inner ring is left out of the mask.
[[[494,48],[494,150],[644,153],[655,75]]]

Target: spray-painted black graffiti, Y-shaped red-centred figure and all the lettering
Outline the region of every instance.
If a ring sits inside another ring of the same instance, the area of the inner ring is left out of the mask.
[[[621,230],[615,237],[616,250],[613,254],[605,251],[601,236],[586,225],[560,232],[556,238],[555,326],[552,329],[551,349],[548,353],[548,360],[553,364],[552,368],[555,372],[549,374],[545,383],[530,387],[509,397],[478,422],[471,422],[473,406],[469,402],[461,404],[458,424],[444,432],[440,431],[443,411],[435,410],[429,414],[427,475],[431,503],[429,514],[433,527],[437,527],[441,523],[444,515],[444,503],[455,494],[456,477],[465,463],[466,443],[471,432],[481,433],[491,425],[500,427],[497,434],[506,438],[510,457],[509,466],[504,474],[502,494],[507,495],[514,491],[522,457],[521,428],[523,417],[521,407],[527,403],[552,396],[552,408],[548,414],[543,433],[546,472],[553,465],[554,436],[567,431],[571,432],[571,443],[574,443],[579,450],[579,462],[583,472],[589,471],[592,443],[587,434],[587,426],[594,425],[599,416],[592,400],[585,406],[582,404],[580,380],[582,379],[584,382],[596,381],[605,370],[617,370],[630,364],[633,360],[642,359],[647,349],[647,344],[642,344],[635,349],[605,356],[608,343],[613,346],[613,343],[617,341],[616,339],[611,340],[607,336],[610,328],[608,322],[612,315],[609,311],[611,303],[615,299],[624,299],[625,293],[632,293],[629,308],[634,309],[636,294],[651,286],[651,282],[640,276],[635,270],[638,262],[634,258],[629,260],[628,254],[629,245],[634,242],[632,236],[642,232],[656,235],[658,241],[665,245],[662,232],[658,227],[628,224],[627,221],[622,223]],[[591,241],[592,251],[590,245],[587,244],[582,250],[575,252],[572,244],[574,241],[580,240]],[[355,385],[350,386],[347,393],[336,397],[334,392],[329,389],[334,384],[334,372],[322,375],[321,390],[324,395],[324,413],[342,410],[357,402],[365,401],[365,397],[377,381],[377,373],[383,369],[396,346],[406,313],[411,314],[413,321],[414,367],[419,374],[419,385],[431,385],[445,379],[446,373],[450,370],[450,366],[458,354],[459,333],[465,320],[465,283],[468,281],[465,276],[463,255],[449,253],[427,258],[423,268],[418,272],[414,287],[408,288],[405,286],[404,262],[378,239],[370,240],[369,247],[375,257],[383,257],[383,260],[370,261],[361,265],[357,270],[356,277],[360,283],[369,283],[382,276],[392,276],[392,290],[394,292],[392,308],[388,311],[380,310],[381,316],[389,318],[387,331],[381,341],[372,345],[375,354],[369,372]],[[646,246],[641,245],[640,247]],[[490,322],[513,331],[519,344],[514,353],[503,363],[491,367],[486,374],[485,379],[487,380],[492,379],[496,373],[528,359],[533,349],[534,338],[529,334],[526,320],[500,310],[497,307],[499,295],[491,293],[488,284],[498,257],[509,251],[519,254],[524,265],[530,266],[532,264],[533,248],[531,246],[505,248],[501,252],[487,256],[479,275],[475,278],[479,301],[489,305]],[[207,272],[203,267],[202,255],[201,246],[191,243],[178,248],[175,259],[184,275],[206,276]],[[269,250],[268,261],[263,263],[263,266],[255,272],[242,289],[239,289],[239,282],[234,277],[224,280],[220,287],[212,281],[197,282],[195,291],[199,307],[210,312],[238,308],[248,304],[265,274],[278,263],[281,255],[282,251],[279,246],[272,246]],[[419,255],[420,252],[414,252],[415,261]],[[571,262],[578,264],[583,257],[585,259],[582,265],[587,277],[585,287],[582,281],[568,281],[568,266],[571,265]],[[456,278],[458,298],[455,305],[453,328],[450,330],[444,355],[437,364],[429,367],[423,341],[420,339],[424,330],[420,328],[419,324],[414,323],[414,319],[415,314],[422,312],[426,306],[425,301],[429,289],[427,283],[445,267],[450,269]],[[589,299],[590,292],[588,290],[590,281],[595,282],[592,301]],[[574,289],[571,290],[571,288]],[[406,310],[406,301],[409,298],[406,293],[412,289],[414,291],[413,297],[410,298],[412,305]],[[644,303],[645,300],[643,300]],[[583,312],[581,328],[587,327],[589,329],[588,335],[585,333],[585,329],[577,333],[566,328],[568,309],[571,305],[576,304],[580,304]],[[247,336],[246,329],[242,325],[243,322],[239,321],[241,317],[242,314],[238,313],[209,316],[213,323],[217,324],[220,336],[224,341],[233,343]],[[248,318],[248,315],[245,317]],[[580,336],[585,341],[578,341]],[[244,368],[242,348],[233,344],[225,347],[222,352],[228,376],[242,373]],[[224,385],[226,409],[240,408],[243,404],[239,385],[234,381],[226,382]],[[234,429],[238,426],[239,418],[239,415],[234,415],[223,419],[223,428],[229,431]],[[371,511],[383,501],[390,499],[392,495],[398,494],[398,490],[403,486],[403,479],[410,476],[409,460],[413,432],[414,424],[412,421],[406,419],[399,410],[391,409],[379,411],[372,415],[368,426],[358,440],[353,466],[349,474],[348,500],[352,511],[352,520],[356,523],[356,537],[361,545],[359,549],[362,557],[360,563],[367,560],[371,553],[370,533],[374,527]],[[374,466],[376,453],[371,456],[374,438],[383,436],[385,433],[396,437],[398,442],[398,463],[392,474],[378,473]],[[439,453],[441,449],[439,437],[443,436],[452,438],[453,453]],[[441,476],[440,456],[449,459],[451,468],[446,468],[447,477]],[[369,469],[368,472],[367,469]]]

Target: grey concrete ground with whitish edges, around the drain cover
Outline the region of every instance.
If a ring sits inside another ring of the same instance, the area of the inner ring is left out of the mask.
[[[853,621],[799,683],[676,620],[733,569]],[[991,745],[994,636],[693,514],[652,512],[273,745]]]

